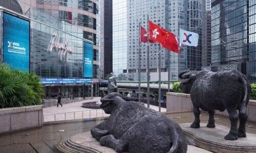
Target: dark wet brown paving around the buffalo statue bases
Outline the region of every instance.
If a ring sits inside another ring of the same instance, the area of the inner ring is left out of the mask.
[[[201,122],[208,121],[208,113],[201,113]],[[178,123],[194,120],[193,112],[166,114]],[[228,117],[216,115],[216,124],[229,127]],[[93,126],[103,120],[80,121],[61,124],[47,124],[42,128],[18,131],[0,135],[0,152],[55,152],[55,145],[59,141],[68,139],[79,133],[88,132]],[[256,123],[247,122],[246,132],[256,134]]]

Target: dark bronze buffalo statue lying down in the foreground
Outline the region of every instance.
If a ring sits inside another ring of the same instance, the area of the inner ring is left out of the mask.
[[[102,146],[117,152],[186,152],[187,140],[181,127],[165,115],[140,106],[138,99],[110,93],[100,107],[111,114],[91,130]]]

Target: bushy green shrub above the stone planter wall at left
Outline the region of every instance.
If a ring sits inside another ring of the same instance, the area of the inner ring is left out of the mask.
[[[25,73],[0,64],[0,108],[42,104],[44,86],[34,73]]]

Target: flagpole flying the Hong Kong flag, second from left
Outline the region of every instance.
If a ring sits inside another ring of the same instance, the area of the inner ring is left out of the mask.
[[[150,26],[147,15],[147,108],[150,108]]]

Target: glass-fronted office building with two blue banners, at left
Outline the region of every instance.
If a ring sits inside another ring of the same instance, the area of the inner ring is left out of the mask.
[[[0,26],[0,35],[4,35],[0,63],[39,75],[46,87],[46,107],[56,102],[58,93],[65,103],[71,103],[97,96],[99,86],[98,2],[83,4],[87,7],[80,6],[82,1],[79,5],[54,2],[0,2],[4,23]],[[72,12],[71,6],[73,14],[67,13]]]

